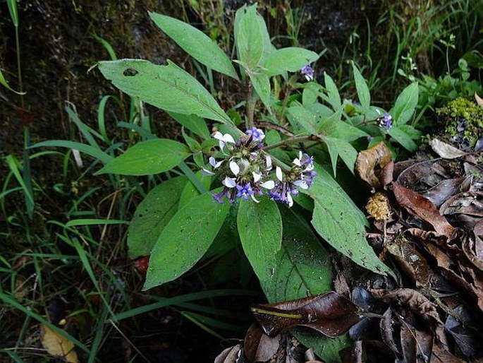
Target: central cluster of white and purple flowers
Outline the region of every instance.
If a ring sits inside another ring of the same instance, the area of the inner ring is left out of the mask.
[[[275,201],[292,206],[293,196],[298,195],[298,189],[308,189],[316,175],[313,158],[300,153],[288,172],[276,166],[274,181],[270,179],[273,169],[271,157],[262,151],[263,131],[253,127],[245,134],[238,141],[229,133],[216,131],[212,135],[219,141],[221,157],[219,160],[209,157],[212,170],[202,169],[202,172],[216,175],[224,186],[221,192],[213,195],[214,200],[224,203],[226,197],[233,203],[236,198],[247,200],[250,197],[258,203],[257,196],[267,194]]]

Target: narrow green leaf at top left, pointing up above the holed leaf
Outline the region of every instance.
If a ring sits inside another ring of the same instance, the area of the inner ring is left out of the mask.
[[[238,80],[238,75],[228,56],[204,32],[169,16],[151,12],[149,12],[149,16],[163,32],[194,59],[215,71]]]

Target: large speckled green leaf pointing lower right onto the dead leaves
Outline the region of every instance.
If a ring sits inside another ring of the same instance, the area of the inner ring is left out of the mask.
[[[312,225],[317,233],[358,265],[395,277],[367,244],[364,215],[328,172],[319,165],[315,170],[317,177],[310,189],[303,192],[314,199]]]

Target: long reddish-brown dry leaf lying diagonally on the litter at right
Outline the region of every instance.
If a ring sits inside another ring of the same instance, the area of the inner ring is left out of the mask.
[[[415,191],[405,188],[396,182],[393,182],[391,185],[393,186],[393,193],[399,206],[408,210],[410,214],[428,222],[434,227],[437,233],[443,234],[450,239],[453,238],[453,226],[448,223],[446,218],[439,214],[439,211],[433,203]]]

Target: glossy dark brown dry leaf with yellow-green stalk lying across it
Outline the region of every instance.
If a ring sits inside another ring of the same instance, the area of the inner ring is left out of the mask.
[[[343,335],[359,321],[358,310],[350,300],[333,291],[251,308],[267,335],[277,335],[295,326],[306,326],[332,338]]]

